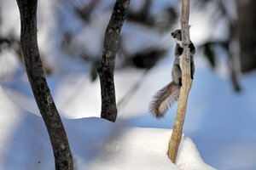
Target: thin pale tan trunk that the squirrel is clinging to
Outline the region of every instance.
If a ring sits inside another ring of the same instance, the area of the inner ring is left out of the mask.
[[[183,39],[183,55],[181,59],[182,82],[180,89],[177,115],[172,128],[172,137],[169,142],[168,157],[173,163],[176,161],[177,149],[182,138],[183,123],[186,114],[187,102],[189,98],[189,91],[192,86],[192,79],[190,76],[190,50],[189,50],[189,0],[182,1],[182,16],[181,16],[181,30]]]

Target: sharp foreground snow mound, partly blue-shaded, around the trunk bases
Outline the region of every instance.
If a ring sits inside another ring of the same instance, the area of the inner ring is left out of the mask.
[[[0,168],[54,169],[48,134],[40,116],[29,113],[0,87]],[[125,127],[101,118],[63,121],[76,169],[213,169],[183,136],[177,166],[166,156],[172,130]]]

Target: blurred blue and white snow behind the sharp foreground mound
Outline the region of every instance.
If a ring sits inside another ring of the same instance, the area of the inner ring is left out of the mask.
[[[197,62],[196,81],[189,94],[183,133],[193,139],[207,164],[218,169],[255,169],[256,74],[241,77],[243,91],[241,94],[234,94],[230,88],[230,80],[218,77],[199,64],[200,62]],[[126,105],[119,108],[117,122],[130,127],[172,128],[177,105],[174,105],[161,120],[154,119],[147,111],[154,93],[170,81],[171,71],[172,68],[164,63],[150,71],[137,93]],[[117,101],[142,75],[142,71],[116,73]],[[48,77],[47,81],[61,116],[68,119],[100,116],[101,97],[98,80],[90,82],[84,74],[70,74],[63,77]],[[24,108],[22,111],[38,114],[27,80],[20,78],[13,83],[4,84],[4,93]],[[24,96],[21,97],[20,94]]]

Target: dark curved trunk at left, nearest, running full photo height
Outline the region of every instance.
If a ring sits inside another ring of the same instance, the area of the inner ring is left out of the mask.
[[[73,158],[61,117],[50,94],[38,51],[37,5],[38,0],[17,0],[21,21],[21,48],[26,73],[38,109],[44,119],[55,156],[55,169],[73,170]]]

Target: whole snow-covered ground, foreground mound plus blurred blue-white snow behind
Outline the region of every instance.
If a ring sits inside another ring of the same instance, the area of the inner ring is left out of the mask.
[[[96,118],[100,116],[101,102],[98,80],[90,82],[82,73],[48,78],[76,165],[104,169],[104,162],[109,169],[207,169],[202,157],[218,169],[254,169],[255,73],[241,77],[243,90],[234,94],[227,78],[197,66],[183,127],[183,133],[189,137],[183,136],[176,167],[166,157],[176,106],[161,120],[148,113],[151,97],[170,79],[171,68],[165,63],[144,77],[137,93],[119,107],[114,124]],[[143,71],[136,70],[116,73],[118,101],[142,75]],[[0,160],[6,167],[3,169],[53,168],[49,139],[26,77],[3,83],[0,105]]]

